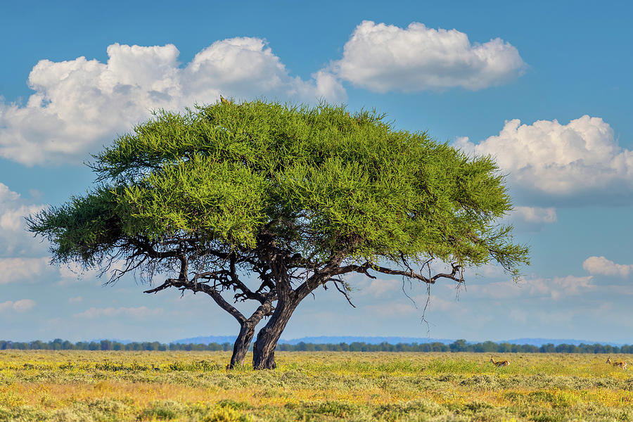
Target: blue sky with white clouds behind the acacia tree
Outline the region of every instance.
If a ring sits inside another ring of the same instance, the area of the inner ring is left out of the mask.
[[[531,247],[515,284],[350,281],[320,290],[284,338],[404,335],[633,343],[633,6],[627,1],[67,1],[0,6],[0,338],[168,341],[236,333],[200,295],[48,264],[23,215],[94,180],[90,153],[219,94],[344,102],[492,154]],[[459,293],[456,294],[456,293]]]

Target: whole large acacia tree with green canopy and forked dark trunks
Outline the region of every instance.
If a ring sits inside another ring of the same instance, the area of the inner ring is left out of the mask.
[[[30,230],[51,241],[54,262],[124,262],[110,281],[167,274],[146,293],[210,295],[241,325],[231,366],[269,316],[253,366],[274,369],[300,302],[320,286],[349,300],[348,274],[462,283],[466,267],[492,262],[517,276],[528,263],[497,223],[511,203],[492,158],[375,112],[222,101],[156,113],[94,159],[98,187],[30,217]],[[450,269],[434,273],[435,263]],[[226,291],[255,311],[247,318]]]

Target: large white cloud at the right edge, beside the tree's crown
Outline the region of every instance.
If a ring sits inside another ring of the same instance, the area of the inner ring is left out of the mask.
[[[497,136],[476,145],[459,138],[454,146],[494,156],[513,186],[546,198],[586,202],[583,198],[593,194],[620,203],[633,198],[633,151],[620,148],[613,129],[599,117],[584,115],[568,124],[514,119]]]

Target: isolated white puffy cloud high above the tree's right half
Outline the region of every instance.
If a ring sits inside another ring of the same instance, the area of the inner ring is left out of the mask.
[[[331,64],[338,77],[378,92],[463,87],[476,90],[518,77],[525,63],[502,39],[474,43],[458,30],[407,28],[364,20]]]

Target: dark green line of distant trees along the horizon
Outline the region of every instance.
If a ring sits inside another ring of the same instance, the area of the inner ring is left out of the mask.
[[[182,351],[224,351],[232,350],[231,343],[210,343],[193,344],[193,343],[158,343],[154,342],[134,342],[120,343],[111,340],[101,341],[79,341],[70,343],[68,340],[55,340],[45,342],[34,340],[31,342],[13,342],[0,340],[0,350],[182,350]],[[251,345],[252,350],[252,345]],[[380,343],[377,345],[369,343],[338,343],[338,344],[314,344],[314,343],[298,343],[296,345],[279,344],[277,350],[285,352],[486,352],[486,353],[630,353],[633,354],[633,345],[611,346],[611,345],[553,345],[546,344],[540,347],[535,345],[513,345],[510,343],[494,343],[485,341],[483,343],[466,343],[466,340],[456,340],[447,345],[445,343]]]

